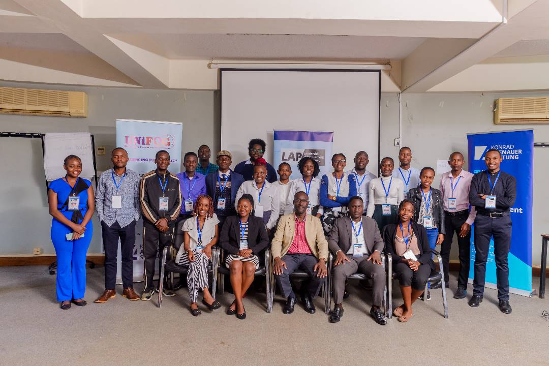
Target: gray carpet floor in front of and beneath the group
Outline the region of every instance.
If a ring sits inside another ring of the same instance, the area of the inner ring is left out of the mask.
[[[452,299],[449,319],[442,316],[440,290],[432,300],[414,304],[406,324],[377,325],[369,317],[371,297],[351,283],[341,322],[330,324],[318,298],[316,314],[296,306],[282,314],[275,297],[267,314],[264,294],[244,299],[248,317],[225,314],[223,307],[194,318],[187,289],[175,297],[128,301],[118,295],[93,303],[103,291],[103,268],[88,269],[86,307],[59,309],[55,276],[46,267],[0,268],[0,365],[548,365],[549,299],[511,296],[513,313],[497,307],[497,292],[486,289],[484,302],[470,308]],[[537,288],[534,278],[535,288]],[[141,291],[142,284],[135,285]],[[468,294],[468,298],[470,293]],[[393,303],[401,302],[394,283]]]

